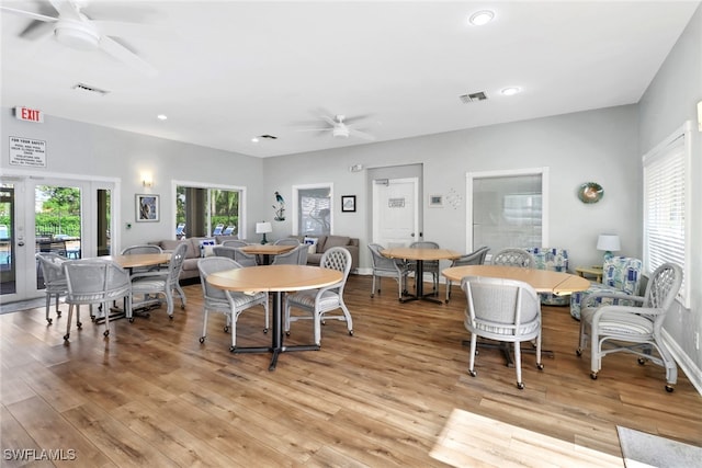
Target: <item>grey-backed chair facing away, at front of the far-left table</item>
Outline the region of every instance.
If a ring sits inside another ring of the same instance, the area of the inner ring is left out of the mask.
[[[110,304],[125,298],[127,318],[132,318],[132,281],[129,272],[115,262],[104,259],[72,260],[64,263],[68,293],[66,304],[68,320],[64,340],[70,338],[70,323],[76,307],[76,324],[82,328],[80,321],[81,305],[99,305],[105,319],[103,335],[110,335]]]

